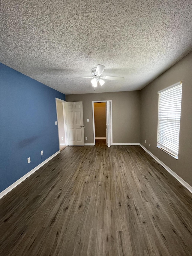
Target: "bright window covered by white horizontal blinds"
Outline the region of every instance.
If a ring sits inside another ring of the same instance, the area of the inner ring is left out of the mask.
[[[182,81],[158,92],[158,94],[157,147],[178,158]]]

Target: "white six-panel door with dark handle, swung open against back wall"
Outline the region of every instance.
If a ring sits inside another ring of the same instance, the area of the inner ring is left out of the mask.
[[[65,118],[68,146],[85,146],[83,125],[83,103],[65,102]]]

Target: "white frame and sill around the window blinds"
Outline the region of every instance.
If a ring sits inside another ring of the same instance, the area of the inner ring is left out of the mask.
[[[176,155],[176,154],[174,154],[173,152],[171,152],[171,150],[165,149],[163,146],[161,146],[161,143],[158,142],[158,137],[159,137],[159,136],[158,136],[158,134],[159,134],[159,110],[160,110],[160,105],[159,105],[159,103],[160,103],[160,93],[165,92],[165,91],[167,91],[167,90],[169,90],[169,89],[171,89],[171,88],[173,88],[173,87],[179,86],[179,85],[182,85],[182,81],[180,81],[180,82],[178,82],[178,83],[175,83],[175,84],[173,84],[173,85],[171,85],[171,86],[168,86],[168,87],[166,87],[165,89],[163,89],[163,90],[161,90],[161,91],[158,92],[157,147],[158,147],[159,149],[161,149],[162,151],[166,152],[168,155],[172,156],[172,157],[175,158],[175,159],[178,159],[178,156],[179,156],[179,149],[178,149],[178,154]],[[182,96],[181,96],[181,99],[182,99]],[[182,104],[182,102],[181,102],[181,104]],[[181,123],[181,114],[180,114],[180,120],[179,120],[179,137],[180,137],[180,123]]]

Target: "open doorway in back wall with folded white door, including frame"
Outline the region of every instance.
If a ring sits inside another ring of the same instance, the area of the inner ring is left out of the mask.
[[[92,108],[94,145],[97,139],[102,139],[110,147],[113,144],[112,101],[92,101]]]

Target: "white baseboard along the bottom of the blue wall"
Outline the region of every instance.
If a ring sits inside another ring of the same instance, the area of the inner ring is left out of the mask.
[[[4,197],[7,193],[9,193],[13,188],[15,188],[17,185],[19,185],[22,181],[24,181],[25,179],[27,179],[30,175],[32,175],[32,173],[35,173],[36,170],[38,170],[40,167],[42,167],[44,164],[46,164],[47,162],[49,162],[49,160],[51,160],[53,157],[55,157],[55,155],[58,155],[58,153],[60,153],[60,150],[57,151],[55,154],[51,155],[49,158],[47,158],[45,161],[43,161],[41,164],[39,164],[38,166],[36,166],[34,169],[32,169],[31,171],[29,171],[28,173],[26,173],[24,176],[22,176],[20,179],[18,179],[16,182],[14,182],[12,185],[10,185],[8,188],[5,188],[5,190],[3,190],[0,193],[0,198]]]

